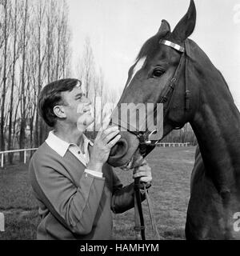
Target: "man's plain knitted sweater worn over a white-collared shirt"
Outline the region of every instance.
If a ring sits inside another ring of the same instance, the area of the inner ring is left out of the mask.
[[[108,164],[103,178],[85,168],[69,150],[62,158],[46,142],[35,152],[29,171],[42,218],[37,239],[111,239],[110,210],[122,213],[134,206],[133,183],[122,187]]]

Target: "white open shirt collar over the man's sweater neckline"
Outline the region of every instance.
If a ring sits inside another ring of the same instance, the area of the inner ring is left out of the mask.
[[[84,143],[84,150],[86,152],[88,150],[88,144],[90,144],[90,146],[93,146],[94,143],[91,142],[90,139],[87,138],[85,134],[82,134],[82,138]],[[58,138],[58,136],[54,134],[54,130],[50,131],[45,142],[48,146],[50,146],[50,148],[52,148],[54,151],[60,154],[62,158],[66,154],[66,151],[69,149],[69,146],[75,145],[73,143],[65,142],[61,138]]]

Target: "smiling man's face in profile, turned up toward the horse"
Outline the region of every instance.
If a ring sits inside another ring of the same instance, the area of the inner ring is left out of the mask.
[[[75,86],[72,91],[62,92],[66,122],[76,124],[78,130],[84,131],[94,121],[90,109],[91,102],[86,98],[80,86]]]

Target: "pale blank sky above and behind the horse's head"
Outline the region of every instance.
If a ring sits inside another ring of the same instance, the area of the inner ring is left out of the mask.
[[[73,65],[89,37],[97,66],[112,90],[125,86],[142,44],[162,19],[171,29],[190,0],[67,0],[70,6]],[[197,25],[190,38],[222,71],[240,109],[240,0],[195,0]]]

